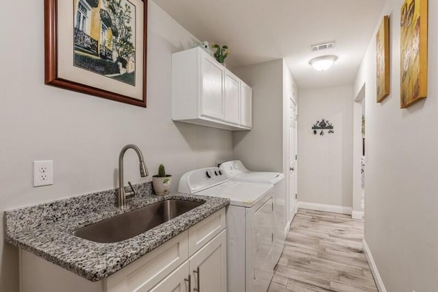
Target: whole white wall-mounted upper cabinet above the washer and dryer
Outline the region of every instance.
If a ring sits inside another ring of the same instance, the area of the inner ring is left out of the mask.
[[[252,95],[251,88],[203,49],[196,47],[172,55],[174,121],[250,130],[252,97],[248,95]]]

